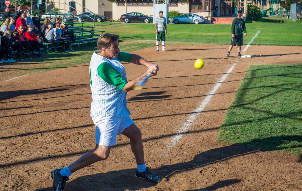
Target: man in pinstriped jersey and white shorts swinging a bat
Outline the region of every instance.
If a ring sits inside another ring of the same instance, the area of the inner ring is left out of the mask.
[[[140,79],[153,73],[157,74],[158,65],[146,61],[136,54],[120,52],[118,35],[103,34],[98,39],[98,51],[92,54],[89,65],[92,103],[90,116],[95,123],[95,149],[83,154],[78,160],[63,169],[51,172],[53,189],[63,190],[69,176],[92,163],[108,158],[111,147],[116,143],[116,137],[123,134],[130,139],[131,150],[134,153],[137,171],[135,176],[159,183],[161,178],[151,173],[146,167],[142,133],[129,117],[126,95]],[[126,71],[120,61],[143,65],[148,70],[139,77],[127,81]]]

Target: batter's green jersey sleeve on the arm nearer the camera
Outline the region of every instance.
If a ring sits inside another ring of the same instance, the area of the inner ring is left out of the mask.
[[[103,62],[98,66],[98,75],[108,84],[114,85],[121,91],[123,91],[127,81],[120,75],[111,64]]]

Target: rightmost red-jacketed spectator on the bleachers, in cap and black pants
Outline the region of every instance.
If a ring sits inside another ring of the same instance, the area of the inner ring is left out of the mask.
[[[41,55],[40,52],[40,47],[44,49],[45,52],[49,51],[51,48],[47,48],[43,45],[43,43],[41,43],[41,39],[38,38],[34,32],[33,32],[33,25],[28,25],[27,31],[25,32],[25,37],[26,39],[29,41],[29,43],[31,44],[31,46],[37,51],[39,52],[39,54],[37,54],[37,58],[43,58],[43,56]]]

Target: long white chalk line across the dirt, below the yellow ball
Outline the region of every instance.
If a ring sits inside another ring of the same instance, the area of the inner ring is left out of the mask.
[[[236,61],[236,63],[237,62],[238,61]],[[186,133],[189,130],[189,128],[191,127],[192,123],[194,122],[194,120],[196,119],[196,117],[198,116],[198,114],[200,114],[201,111],[204,110],[204,107],[210,101],[210,99],[215,94],[215,92],[217,91],[217,89],[219,88],[219,86],[226,79],[227,75],[231,73],[231,71],[233,70],[233,68],[236,66],[236,63],[234,63],[231,66],[231,68],[222,76],[222,78],[215,85],[215,87],[210,92],[210,94],[207,95],[207,97],[204,99],[204,101],[201,103],[201,105],[194,111],[194,113],[188,118],[188,120],[185,122],[185,124],[183,124],[182,127],[178,130],[178,132],[176,133],[176,135],[174,136],[174,138],[171,140],[170,144],[168,145],[168,149],[174,147],[178,143],[178,141],[180,140],[180,138],[182,138],[182,134]]]

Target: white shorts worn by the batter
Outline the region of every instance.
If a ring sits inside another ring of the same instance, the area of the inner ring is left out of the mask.
[[[92,120],[95,123],[96,144],[105,146],[115,145],[117,135],[134,123],[129,116],[98,115],[92,117]]]

